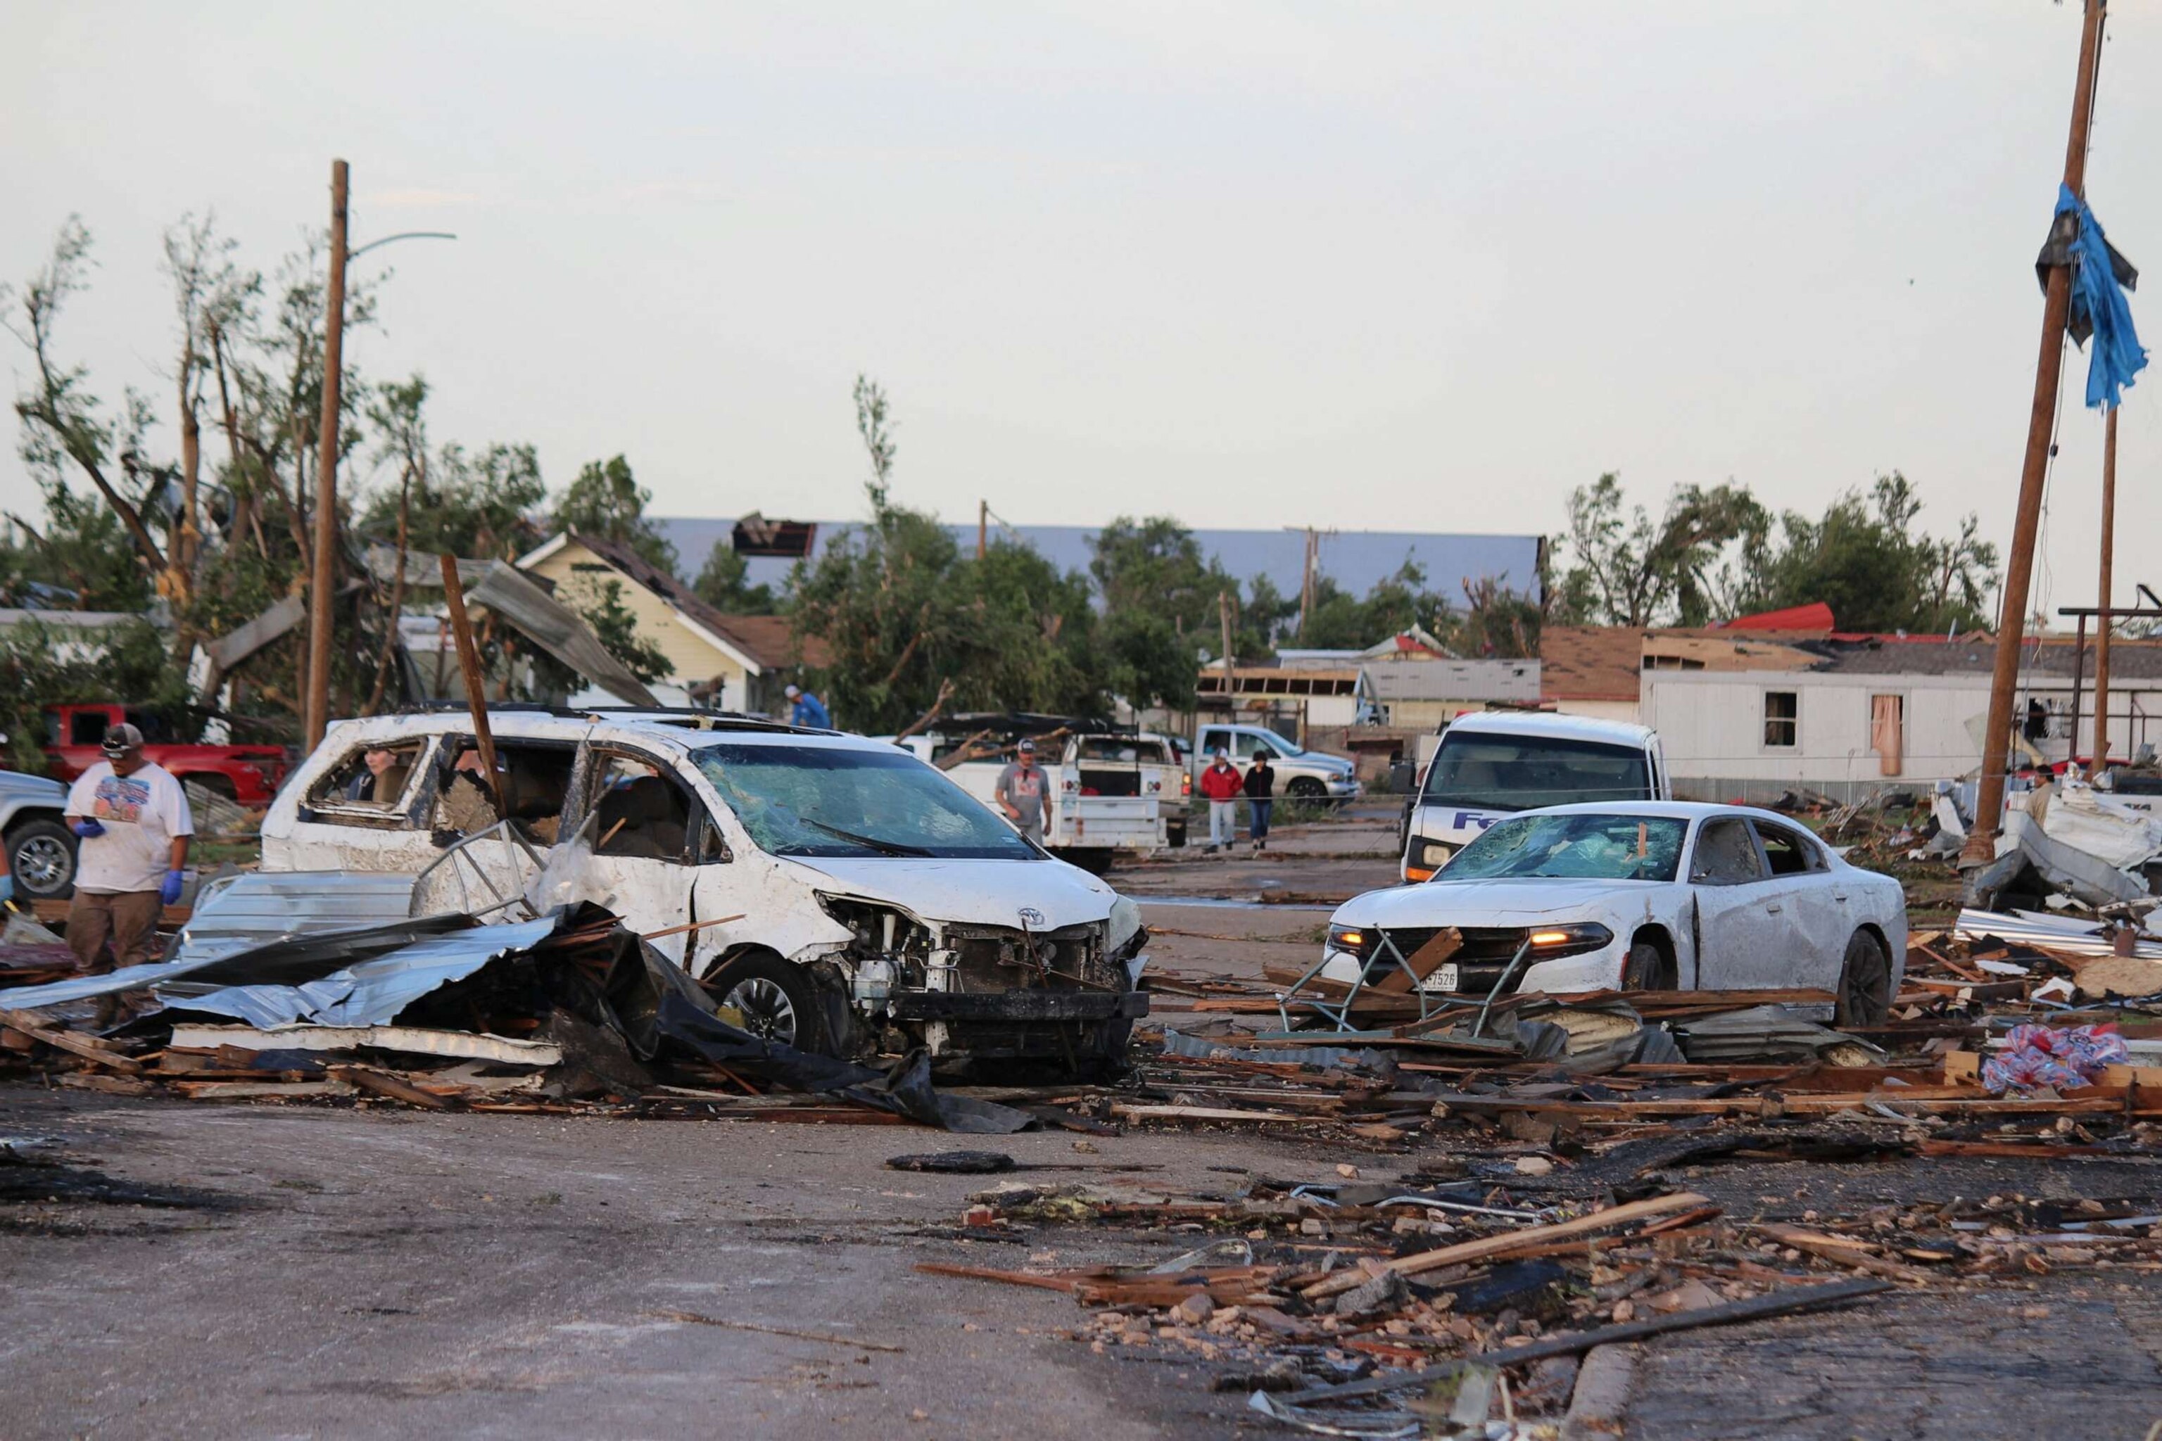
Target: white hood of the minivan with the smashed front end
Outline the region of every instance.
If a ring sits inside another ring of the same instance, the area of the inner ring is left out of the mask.
[[[783,860],[828,894],[897,905],[919,920],[1055,931],[1105,920],[1118,892],[1064,860],[910,860],[791,856]],[[1033,916],[1023,916],[1033,910]]]

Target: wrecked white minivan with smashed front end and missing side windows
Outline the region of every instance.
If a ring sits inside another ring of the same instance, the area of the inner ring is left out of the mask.
[[[590,899],[776,1041],[1116,1065],[1137,910],[915,756],[690,713],[491,709],[331,726],[264,817],[266,873],[398,873],[411,912]],[[359,920],[355,920],[359,925]]]

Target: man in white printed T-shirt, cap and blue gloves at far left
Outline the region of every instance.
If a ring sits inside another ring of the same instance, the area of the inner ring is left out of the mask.
[[[162,907],[179,901],[195,817],[173,773],[143,758],[143,732],[106,730],[104,760],[67,791],[67,823],[76,847],[76,903],[67,910],[67,948],[76,966],[99,974],[151,959]],[[106,959],[112,942],[112,961]],[[110,1024],[117,1002],[99,1002]]]

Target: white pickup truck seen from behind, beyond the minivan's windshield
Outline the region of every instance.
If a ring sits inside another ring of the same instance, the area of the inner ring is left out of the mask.
[[[956,717],[951,730],[930,730],[899,741],[902,748],[940,765],[962,741],[986,730],[973,717]],[[995,732],[999,754],[943,767],[953,784],[999,810],[999,773],[1012,760],[1012,745],[1027,735]],[[1053,808],[1044,845],[1092,875],[1103,875],[1120,853],[1148,856],[1185,843],[1185,767],[1161,737],[1120,730],[1068,730],[1044,735],[1036,763],[1051,776]],[[1003,814],[1003,812],[1001,812]]]

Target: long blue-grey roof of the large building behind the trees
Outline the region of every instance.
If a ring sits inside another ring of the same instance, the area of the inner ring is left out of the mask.
[[[711,555],[713,544],[729,540],[735,519],[707,516],[653,516],[655,529],[677,549],[677,568],[683,579],[696,579]],[[819,521],[813,555],[822,553],[835,536],[852,529],[856,521]],[[975,544],[973,525],[949,525],[953,538],[964,547]],[[1016,525],[995,534],[1020,536],[1062,570],[1087,570],[1090,538],[1094,525]],[[1276,590],[1286,596],[1299,594],[1299,570],[1306,564],[1306,531],[1295,529],[1196,529],[1204,555],[1217,557],[1226,570],[1247,583],[1256,575],[1276,581]],[[1323,531],[1319,540],[1319,568],[1338,585],[1353,594],[1366,594],[1375,581],[1394,575],[1405,560],[1416,560],[1427,570],[1427,585],[1464,601],[1464,581],[1494,579],[1498,585],[1539,594],[1539,536],[1462,536],[1431,531],[1366,531],[1340,529]],[[787,581],[796,562],[752,555],[746,562],[748,579],[755,585]]]

